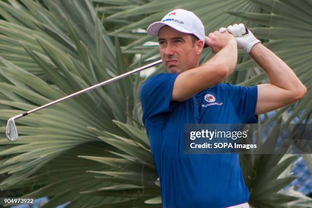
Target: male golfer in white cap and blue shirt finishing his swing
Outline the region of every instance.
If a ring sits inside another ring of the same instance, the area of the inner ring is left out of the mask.
[[[184,154],[184,124],[255,123],[255,115],[295,102],[306,93],[293,71],[250,31],[242,35],[244,28],[235,24],[205,37],[199,18],[181,9],[147,28],[148,34],[158,36],[168,72],[147,79],[140,92],[165,208],[249,207],[239,156]],[[215,55],[199,66],[204,43]],[[220,83],[233,72],[238,48],[264,69],[270,84]],[[205,105],[210,101],[205,95],[219,105]]]

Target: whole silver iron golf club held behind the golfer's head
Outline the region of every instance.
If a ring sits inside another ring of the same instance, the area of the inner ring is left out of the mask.
[[[245,26],[245,29],[246,29],[246,33],[245,33],[245,34],[248,34],[248,29],[247,29],[246,26]],[[243,35],[245,35],[245,34],[243,34]],[[206,44],[204,44],[204,48],[206,48],[206,47],[209,47],[209,46],[206,45]],[[7,129],[6,129],[7,138],[8,138],[10,141],[16,141],[16,140],[18,139],[18,132],[17,132],[17,128],[16,128],[16,125],[15,125],[15,120],[17,120],[18,118],[21,118],[21,117],[23,117],[23,116],[26,116],[26,115],[28,115],[28,114],[31,114],[31,113],[36,112],[36,111],[38,111],[38,110],[41,110],[41,109],[43,109],[43,108],[46,108],[46,107],[48,107],[48,106],[50,106],[50,105],[54,105],[54,104],[59,103],[59,102],[61,102],[61,101],[63,101],[63,100],[66,100],[66,99],[68,99],[68,98],[72,98],[72,97],[77,96],[77,95],[80,95],[80,94],[82,94],[82,93],[86,93],[86,92],[88,92],[88,91],[90,91],[90,90],[93,90],[93,89],[95,89],[95,88],[97,88],[97,87],[100,87],[100,86],[103,86],[103,85],[105,85],[105,84],[108,84],[108,83],[110,83],[110,82],[116,81],[116,80],[118,80],[118,79],[124,78],[124,77],[126,77],[126,76],[128,76],[128,75],[131,75],[131,74],[140,72],[140,71],[142,71],[142,70],[148,69],[148,68],[153,67],[153,66],[157,66],[157,65],[159,65],[159,64],[161,64],[161,63],[162,63],[162,60],[155,61],[155,62],[153,62],[153,63],[151,63],[151,64],[145,65],[145,66],[140,67],[140,68],[138,68],[138,69],[134,69],[134,70],[132,70],[132,71],[126,72],[126,73],[124,73],[124,74],[121,74],[121,75],[116,76],[116,77],[114,77],[114,78],[111,78],[111,79],[109,79],[109,80],[100,82],[100,83],[95,84],[95,85],[93,85],[93,86],[90,86],[90,87],[88,87],[88,88],[86,88],[86,89],[84,89],[84,90],[81,90],[81,91],[79,91],[79,92],[73,93],[73,94],[68,95],[68,96],[66,96],[66,97],[64,97],[64,98],[61,98],[61,99],[59,99],[59,100],[56,100],[56,101],[47,103],[47,104],[45,104],[45,105],[43,105],[43,106],[40,106],[40,107],[38,107],[38,108],[35,108],[35,109],[33,109],[33,110],[30,110],[30,111],[27,111],[27,112],[24,112],[24,113],[15,115],[15,116],[11,117],[11,118],[8,120]]]

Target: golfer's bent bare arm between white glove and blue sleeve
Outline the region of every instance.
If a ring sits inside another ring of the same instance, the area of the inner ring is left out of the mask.
[[[258,85],[255,114],[288,105],[306,94],[306,87],[292,69],[264,45],[255,44],[249,54],[263,68],[270,80],[270,84]]]

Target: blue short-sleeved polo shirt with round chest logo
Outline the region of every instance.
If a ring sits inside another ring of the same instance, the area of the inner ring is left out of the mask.
[[[143,123],[160,177],[163,206],[221,208],[247,202],[249,193],[239,155],[184,154],[183,135],[184,124],[255,123],[257,86],[218,83],[186,101],[172,102],[177,76],[152,76],[140,91]]]

